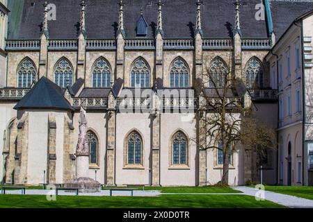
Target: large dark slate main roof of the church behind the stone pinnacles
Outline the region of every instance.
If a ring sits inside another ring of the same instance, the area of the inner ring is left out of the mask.
[[[86,28],[89,38],[115,38],[118,28],[119,0],[87,0]],[[43,20],[44,0],[13,1],[19,9],[10,17],[9,39],[37,39]],[[35,2],[35,6],[31,3]],[[154,37],[157,28],[157,0],[127,0],[124,7],[126,37],[136,37],[136,22],[143,16],[148,24],[147,37]],[[232,37],[234,5],[232,0],[204,0],[202,29],[204,37]],[[56,21],[49,21],[51,38],[76,38],[79,28],[78,0],[50,0],[56,5]],[[193,0],[163,0],[163,30],[165,37],[193,37],[196,6]],[[241,6],[243,37],[267,37],[266,21],[255,19],[255,5],[260,0],[244,0]],[[18,15],[17,15],[18,14]],[[12,20],[12,19],[11,19]]]

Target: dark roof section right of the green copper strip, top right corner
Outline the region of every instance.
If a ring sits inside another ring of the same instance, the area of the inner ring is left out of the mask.
[[[279,40],[287,28],[301,15],[313,8],[313,1],[271,1],[273,28]]]

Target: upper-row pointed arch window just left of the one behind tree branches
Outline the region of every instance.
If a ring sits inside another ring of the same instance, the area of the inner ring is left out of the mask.
[[[172,66],[170,68],[170,87],[189,87],[189,69],[186,62],[184,62],[182,58],[177,58],[174,62],[172,62]]]

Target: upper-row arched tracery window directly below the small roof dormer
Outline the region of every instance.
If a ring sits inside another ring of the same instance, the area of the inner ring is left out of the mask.
[[[150,67],[143,58],[135,60],[131,67],[131,87],[150,87]]]

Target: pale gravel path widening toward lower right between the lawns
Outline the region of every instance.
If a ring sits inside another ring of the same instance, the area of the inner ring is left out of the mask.
[[[251,187],[233,187],[236,190],[242,191],[243,194],[248,196],[255,196],[258,189]],[[271,191],[265,191],[264,198],[270,200],[273,203],[278,203],[286,207],[291,208],[313,208],[313,200],[307,200],[305,198],[299,198],[296,196],[289,196],[286,194],[278,194]]]

